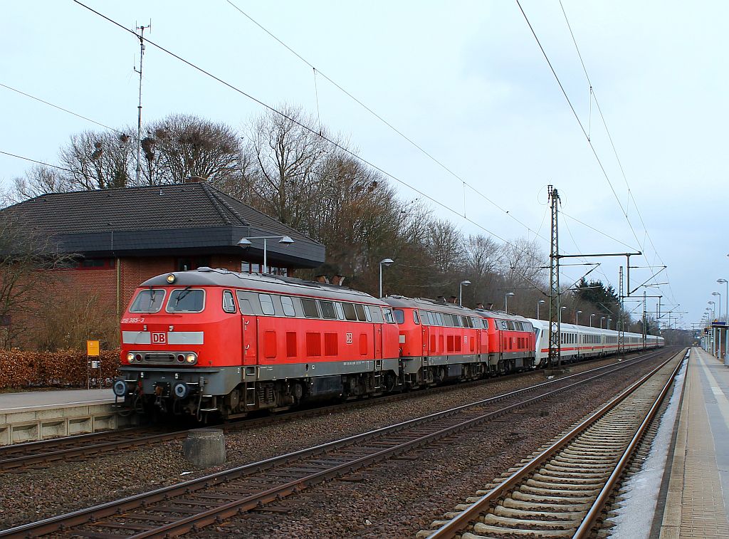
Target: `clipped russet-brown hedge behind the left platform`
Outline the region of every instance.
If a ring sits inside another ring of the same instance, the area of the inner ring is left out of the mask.
[[[119,373],[119,349],[102,350],[101,376],[91,370],[92,384],[109,387]],[[34,387],[86,387],[87,358],[79,350],[25,352],[0,350],[0,389]]]

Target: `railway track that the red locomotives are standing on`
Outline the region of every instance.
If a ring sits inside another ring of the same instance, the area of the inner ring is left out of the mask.
[[[639,359],[636,357],[635,359]],[[510,375],[512,377],[526,376],[526,373]],[[320,406],[318,408],[303,408],[296,411],[288,411],[275,416],[264,416],[257,418],[243,419],[241,421],[217,425],[226,432],[242,430],[252,427],[262,427],[278,421],[291,421],[313,415],[327,415],[333,411],[342,411],[351,408],[362,408],[375,404],[387,403],[389,401],[403,400],[413,397],[425,397],[438,392],[451,391],[488,383],[491,379],[471,381],[464,384],[446,385],[419,390],[418,392],[396,393],[383,397],[364,400],[351,400],[332,406]],[[66,438],[53,438],[50,440],[36,441],[30,443],[17,443],[10,446],[0,446],[0,472],[18,472],[29,467],[44,467],[59,460],[86,459],[98,454],[123,451],[126,449],[138,448],[141,446],[160,443],[169,440],[182,440],[187,437],[189,430],[165,430],[157,427],[139,427],[122,430],[109,430],[101,433],[69,436]]]

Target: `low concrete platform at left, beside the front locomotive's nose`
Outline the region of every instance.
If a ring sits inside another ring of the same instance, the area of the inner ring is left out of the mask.
[[[111,389],[0,393],[0,446],[128,426]]]

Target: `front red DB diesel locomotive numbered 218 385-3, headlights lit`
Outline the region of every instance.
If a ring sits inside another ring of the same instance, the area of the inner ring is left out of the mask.
[[[390,307],[335,285],[199,268],[153,277],[121,321],[122,379],[136,411],[242,416],[399,384]]]

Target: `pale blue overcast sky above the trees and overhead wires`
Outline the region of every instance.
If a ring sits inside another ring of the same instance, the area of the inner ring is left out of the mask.
[[[561,252],[644,252],[631,265],[668,265],[652,282],[670,285],[647,289],[663,295],[664,312],[688,311],[690,327],[717,290],[725,314],[716,281],[729,279],[729,246],[717,233],[729,219],[729,3],[563,0],[596,101],[559,1],[522,1],[603,172],[515,1],[232,1],[453,174],[321,75],[317,111],[311,66],[226,0],[85,3],[127,28],[151,20],[153,42],[271,106],[318,115],[363,158],[443,204],[432,206],[466,233],[537,233],[548,252],[555,185]],[[71,0],[4,2],[1,11],[0,84],[136,127],[135,36]],[[263,110],[150,44],[143,105],[145,120],[189,113],[234,126]],[[1,86],[0,106],[0,151],[48,163],[72,133],[98,128]],[[1,184],[30,165],[0,155]],[[422,198],[395,183],[405,200]],[[590,277],[617,290],[625,258],[598,261]],[[583,271],[564,268],[563,282]],[[650,276],[632,270],[631,288]]]

